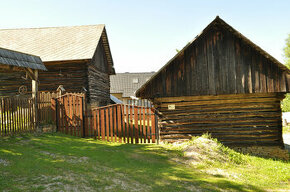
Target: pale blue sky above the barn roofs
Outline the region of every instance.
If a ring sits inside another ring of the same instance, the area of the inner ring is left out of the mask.
[[[290,1],[0,0],[0,28],[106,24],[117,72],[157,71],[217,15],[284,63]]]

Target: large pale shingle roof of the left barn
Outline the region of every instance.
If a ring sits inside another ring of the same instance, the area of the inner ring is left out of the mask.
[[[113,68],[103,24],[0,30],[0,47],[39,55],[43,62],[92,59],[101,41],[108,64]]]

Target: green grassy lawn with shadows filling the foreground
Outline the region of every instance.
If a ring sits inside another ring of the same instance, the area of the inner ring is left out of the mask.
[[[0,191],[290,190],[290,163],[242,155],[190,164],[181,146],[114,144],[62,134],[0,140]]]

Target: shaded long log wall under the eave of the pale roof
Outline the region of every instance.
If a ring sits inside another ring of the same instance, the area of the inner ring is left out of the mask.
[[[48,71],[39,71],[39,91],[56,91],[63,85],[68,92],[81,92],[88,89],[88,61],[46,62]],[[31,80],[25,79],[25,72],[0,71],[0,96],[18,95],[20,86],[27,87],[31,93]]]

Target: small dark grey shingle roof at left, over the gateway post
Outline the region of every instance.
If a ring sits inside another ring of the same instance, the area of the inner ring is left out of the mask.
[[[40,57],[0,48],[0,65],[47,70]]]

